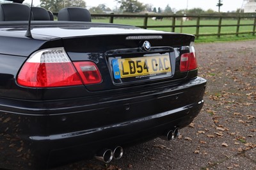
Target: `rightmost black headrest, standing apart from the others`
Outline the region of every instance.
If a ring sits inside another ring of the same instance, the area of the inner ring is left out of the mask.
[[[86,21],[91,22],[91,14],[85,8],[80,7],[68,7],[63,8],[58,13],[58,20],[70,20],[70,21]]]

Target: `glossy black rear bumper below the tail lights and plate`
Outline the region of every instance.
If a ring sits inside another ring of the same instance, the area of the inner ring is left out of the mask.
[[[23,101],[19,107],[13,100],[1,99],[0,167],[55,166],[186,127],[202,109],[205,85],[205,79],[197,77],[140,94]]]

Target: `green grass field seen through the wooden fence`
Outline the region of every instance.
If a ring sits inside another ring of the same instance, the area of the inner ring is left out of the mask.
[[[143,18],[133,18],[133,19],[119,19],[115,18],[115,24],[127,24],[132,26],[143,26]],[[105,22],[108,23],[109,19],[92,19],[92,22]],[[218,25],[218,20],[200,20],[200,25]],[[254,20],[241,20],[240,24],[253,24]],[[175,21],[176,26],[193,26],[196,25],[196,20],[188,20],[185,22],[181,22],[180,20]],[[222,20],[222,25],[230,25],[230,24],[237,24],[237,20]],[[152,20],[148,19],[148,26],[172,26],[172,19],[164,18],[163,20]],[[160,28],[150,28],[159,31],[172,31],[171,27],[160,27]],[[235,26],[225,26],[221,27],[221,33],[236,33],[237,27]],[[253,31],[253,26],[240,26],[239,32],[248,32]],[[176,27],[175,33],[187,33],[187,34],[196,34],[196,27]],[[216,34],[218,33],[218,27],[200,27],[199,34]],[[216,41],[236,41],[236,40],[248,40],[248,39],[255,39],[256,36],[244,34],[239,35],[230,35],[230,36],[221,36],[218,38],[217,36],[200,36],[197,42],[216,42]]]

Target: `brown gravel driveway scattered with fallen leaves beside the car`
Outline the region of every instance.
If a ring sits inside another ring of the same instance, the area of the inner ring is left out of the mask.
[[[104,164],[84,160],[60,169],[256,169],[256,40],[196,44],[205,105],[179,139],[125,148]]]

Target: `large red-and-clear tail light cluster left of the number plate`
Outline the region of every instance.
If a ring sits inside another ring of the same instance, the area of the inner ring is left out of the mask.
[[[99,69],[95,63],[87,61],[84,64],[82,61],[76,62],[75,65],[79,63],[79,67],[75,68],[62,47],[39,50],[24,63],[17,77],[17,83],[33,88],[51,88],[101,82]],[[90,68],[82,69],[90,65],[94,67],[93,72]],[[95,72],[97,77],[93,78]],[[92,79],[93,81],[88,81]]]

